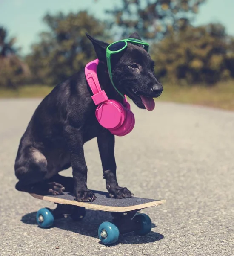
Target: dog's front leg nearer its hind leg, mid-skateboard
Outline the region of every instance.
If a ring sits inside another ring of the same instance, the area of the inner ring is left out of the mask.
[[[96,196],[87,188],[87,166],[84,156],[83,136],[81,132],[68,125],[65,137],[71,155],[71,168],[74,180],[74,196],[77,201],[94,201]]]

